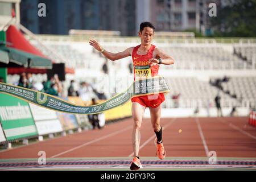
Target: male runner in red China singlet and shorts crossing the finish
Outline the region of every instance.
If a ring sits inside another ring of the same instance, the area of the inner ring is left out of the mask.
[[[127,48],[125,51],[118,53],[106,51],[94,39],[90,39],[89,44],[112,61],[122,59],[123,57],[131,56],[134,65],[134,80],[136,80],[137,78],[141,78],[142,76],[144,77],[145,73],[147,77],[157,76],[159,65],[174,64],[174,59],[160,49],[156,48],[153,44],[151,44],[152,38],[154,36],[154,31],[155,27],[152,25],[152,23],[141,23],[139,28],[139,37],[141,38],[141,44],[136,47]],[[146,68],[142,66],[149,67]],[[141,68],[144,68],[144,70]],[[161,104],[164,100],[165,98],[163,93],[131,98],[131,102],[133,102],[131,106],[131,111],[134,121],[132,134],[134,158],[131,162],[131,170],[138,170],[142,168],[142,164],[139,160],[139,143],[141,140],[141,123],[146,107],[150,109],[151,125],[156,134],[156,155],[158,155],[159,159],[164,159],[166,156],[166,151],[164,150],[162,141],[162,126],[160,126]]]

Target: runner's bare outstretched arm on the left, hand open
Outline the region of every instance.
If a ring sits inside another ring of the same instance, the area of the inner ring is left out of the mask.
[[[112,61],[122,59],[124,57],[128,57],[131,55],[131,52],[133,51],[133,47],[130,47],[130,48],[125,49],[125,51],[118,52],[118,53],[108,52],[101,46],[100,43],[98,43],[94,39],[90,39],[89,44],[90,44],[90,46],[94,47],[97,51],[100,51],[106,58],[108,58]]]

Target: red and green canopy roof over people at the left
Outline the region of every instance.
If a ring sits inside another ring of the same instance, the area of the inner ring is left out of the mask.
[[[32,46],[13,25],[6,31],[6,42],[7,47],[0,48],[0,65],[8,64],[8,74],[19,74],[24,71],[46,73],[46,69],[52,69],[54,62]],[[24,68],[21,69],[21,66]],[[72,68],[65,68],[65,72],[75,73]]]

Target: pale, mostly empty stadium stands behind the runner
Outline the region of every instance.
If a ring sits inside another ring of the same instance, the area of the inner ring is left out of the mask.
[[[90,73],[100,74],[102,73],[102,65],[106,61],[106,58],[98,51],[89,46],[85,40],[73,41],[68,40],[68,37],[64,39],[51,36],[51,39],[44,37],[42,43],[48,48],[55,51],[58,55],[63,57],[62,60],[59,57],[54,57],[51,52],[39,46],[36,42],[31,41],[37,48],[43,51],[48,57],[51,57],[57,63],[63,62],[69,67],[75,69],[84,70],[82,73],[86,76],[86,81],[97,85],[97,79],[94,79]],[[136,39],[137,40],[137,39]],[[186,40],[186,39],[185,39]],[[185,41],[184,40],[184,41]],[[239,43],[239,44],[223,44],[216,43],[213,40],[209,42],[207,39],[200,40],[201,43],[192,40],[185,42],[176,41],[168,43],[166,40],[157,39],[156,44],[160,49],[167,52],[174,57],[175,64],[171,67],[161,67],[161,69],[168,71],[172,70],[192,70],[192,71],[241,71],[255,69],[252,64],[254,53],[256,52],[254,43]],[[120,52],[128,47],[135,46],[139,42],[135,42],[135,39],[129,40],[113,37],[112,40],[105,40],[98,38],[98,42],[110,52]],[[129,75],[129,63],[132,63],[131,57],[126,57],[118,61],[109,61],[109,79],[116,80],[116,78],[125,78]],[[90,75],[90,77],[88,77]],[[35,75],[36,80],[46,80],[46,76]],[[216,75],[212,78],[218,78]],[[9,76],[9,82],[17,82],[18,76]],[[253,106],[255,107],[256,93],[255,93],[255,77],[237,77],[230,78],[229,82],[222,82],[223,90],[218,89],[216,86],[212,86],[208,81],[199,80],[195,76],[184,77],[182,73],[175,77],[165,77],[167,84],[170,86],[171,92],[166,95],[166,102],[164,107],[175,107],[172,96],[180,93],[179,107],[207,107],[209,105],[214,106],[214,97],[217,93],[221,96],[221,105],[223,107],[231,106]],[[81,77],[76,78],[77,83],[84,81]],[[64,87],[69,86],[69,80]],[[114,86],[114,85],[112,85]],[[236,98],[234,98],[236,94]],[[113,94],[107,94],[109,97]]]

